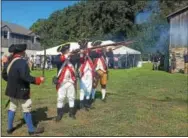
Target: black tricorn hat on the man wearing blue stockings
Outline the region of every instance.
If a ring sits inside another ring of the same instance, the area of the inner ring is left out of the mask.
[[[27,44],[12,44],[9,47],[8,52],[19,53],[25,51],[26,49],[27,49]]]

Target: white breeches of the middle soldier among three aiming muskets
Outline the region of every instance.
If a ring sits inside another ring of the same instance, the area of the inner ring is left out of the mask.
[[[93,85],[92,72],[87,71],[80,80],[80,100],[84,100],[84,96],[88,100],[91,95]]]

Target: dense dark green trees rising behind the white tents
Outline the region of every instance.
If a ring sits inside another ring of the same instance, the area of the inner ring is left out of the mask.
[[[139,12],[144,12],[149,2],[151,1],[80,1],[53,12],[48,19],[39,19],[31,26],[31,30],[41,36],[41,43],[46,47],[82,38],[115,41],[136,39],[139,43],[135,43],[133,47],[143,52],[147,47],[156,46],[161,35],[159,28],[168,29],[166,15],[188,4],[183,0],[159,0],[160,11],[154,12],[149,22],[135,24],[135,17]],[[149,6],[149,9],[152,10],[152,7]]]

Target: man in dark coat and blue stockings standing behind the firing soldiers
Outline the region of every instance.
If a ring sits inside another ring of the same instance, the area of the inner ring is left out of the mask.
[[[9,52],[13,53],[8,66],[3,69],[2,77],[7,81],[6,95],[10,97],[10,107],[8,110],[8,134],[12,134],[13,121],[16,108],[19,104],[22,106],[24,119],[30,135],[44,132],[44,128],[35,128],[31,116],[30,84],[40,85],[43,77],[32,77],[27,61],[24,59],[26,44],[11,45]]]

